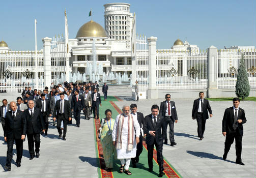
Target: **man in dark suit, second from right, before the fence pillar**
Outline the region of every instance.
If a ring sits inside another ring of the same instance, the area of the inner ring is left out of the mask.
[[[204,99],[204,92],[199,93],[199,98],[194,100],[192,109],[192,119],[197,121],[197,134],[203,140],[205,132],[205,123],[209,118],[208,111],[210,112],[210,117],[212,117],[212,109],[210,103],[207,99]],[[207,111],[208,110],[208,111]]]

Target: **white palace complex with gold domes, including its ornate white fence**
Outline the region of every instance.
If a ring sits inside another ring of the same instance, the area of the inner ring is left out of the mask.
[[[233,96],[244,54],[250,96],[256,95],[254,46],[217,49],[209,44],[201,50],[177,39],[170,49],[157,49],[156,37],[137,35],[136,16],[127,3],[105,4],[104,21],[104,27],[92,20],[84,23],[69,39],[65,12],[65,36],[42,38],[41,50],[14,51],[0,41],[0,90],[16,92],[31,85],[42,89],[66,80],[119,84],[131,80],[135,97],[137,80],[140,98],[162,98],[174,91],[180,92],[177,97],[197,91],[211,97]]]

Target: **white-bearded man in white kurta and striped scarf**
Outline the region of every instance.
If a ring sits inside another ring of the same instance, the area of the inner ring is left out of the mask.
[[[123,106],[123,113],[119,114],[117,116],[115,125],[113,127],[112,141],[113,141],[113,144],[117,148],[118,159],[120,159],[120,161],[121,161],[120,168],[124,167],[124,165],[125,165],[125,172],[130,175],[131,172],[128,171],[129,165],[130,165],[131,158],[136,157],[136,144],[139,142],[139,134],[140,134],[139,129],[140,128],[139,128],[138,121],[136,119],[132,118],[129,111],[130,111],[130,106]],[[122,118],[123,118],[123,120],[122,120]],[[129,122],[128,122],[128,120],[129,120]],[[123,123],[122,123],[123,128],[120,127],[119,122],[121,122],[121,121],[123,121]],[[128,123],[129,123],[129,125],[128,125]],[[133,126],[131,126],[131,124],[133,124]],[[129,129],[129,126],[130,126],[130,128],[132,127],[133,130]],[[132,135],[129,135],[128,133],[132,134]],[[129,141],[128,135],[130,136],[130,138],[132,138],[131,136],[133,136],[133,140],[132,140],[133,145],[131,145],[131,141]],[[136,135],[136,138],[134,135]],[[120,138],[118,138],[118,137],[120,137]],[[125,161],[125,159],[126,159],[126,161]],[[120,169],[120,171],[122,172],[121,169]]]

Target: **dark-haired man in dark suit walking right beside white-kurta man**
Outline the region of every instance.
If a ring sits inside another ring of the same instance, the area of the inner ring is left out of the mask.
[[[149,171],[153,171],[153,151],[156,146],[157,163],[159,165],[159,177],[164,175],[163,168],[163,137],[161,129],[163,129],[163,118],[158,115],[159,107],[153,105],[151,114],[147,115],[144,120],[143,130],[147,134],[146,143],[148,148]]]

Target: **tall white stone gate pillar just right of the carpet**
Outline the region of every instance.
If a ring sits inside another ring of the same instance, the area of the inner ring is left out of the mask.
[[[156,87],[156,40],[157,37],[148,38],[149,42],[149,89],[148,98],[158,98]]]

